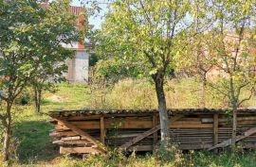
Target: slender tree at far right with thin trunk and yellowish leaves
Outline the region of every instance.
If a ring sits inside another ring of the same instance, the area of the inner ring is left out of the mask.
[[[237,109],[250,99],[256,78],[255,4],[250,1],[210,1],[212,24],[201,39],[201,48],[217,75],[208,84],[229,99],[232,109],[232,148],[236,142]],[[242,92],[249,92],[246,97]]]

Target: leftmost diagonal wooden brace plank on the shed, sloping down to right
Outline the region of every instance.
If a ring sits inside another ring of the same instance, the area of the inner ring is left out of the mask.
[[[101,152],[101,153],[105,153],[106,152],[104,144],[102,144],[101,142],[99,142],[96,139],[94,139],[88,133],[82,131],[82,129],[78,128],[76,125],[72,125],[72,124],[68,123],[67,121],[65,121],[64,119],[59,118],[59,117],[54,117],[54,118],[56,120],[58,120],[59,122],[62,122],[66,127],[70,128],[76,134],[84,137],[87,141],[94,143],[97,146],[96,149],[98,149],[99,152]]]

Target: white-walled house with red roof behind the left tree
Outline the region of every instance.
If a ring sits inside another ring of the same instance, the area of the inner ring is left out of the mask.
[[[43,8],[47,7],[47,3],[42,4]],[[81,7],[70,6],[69,11],[79,16],[82,12]],[[84,18],[81,16],[78,19],[78,25]],[[74,50],[74,58],[68,59],[66,64],[68,71],[65,75],[66,79],[72,83],[87,83],[88,68],[89,68],[89,54],[85,50],[84,42],[77,42],[72,44],[63,44],[64,48]]]

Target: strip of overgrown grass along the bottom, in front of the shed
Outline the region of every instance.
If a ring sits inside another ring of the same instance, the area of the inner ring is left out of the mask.
[[[219,155],[206,152],[190,152],[183,154],[179,159],[163,161],[151,154],[144,156],[132,154],[125,157],[116,153],[115,156],[107,154],[88,156],[85,159],[64,156],[62,159],[58,159],[58,163],[51,165],[55,167],[255,167],[255,156],[255,152],[247,152],[236,156],[226,152]],[[31,164],[30,166],[39,167],[43,165],[44,163]]]

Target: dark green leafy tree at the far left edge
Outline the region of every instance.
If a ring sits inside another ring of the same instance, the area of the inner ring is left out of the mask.
[[[4,125],[4,161],[9,159],[11,108],[15,98],[37,77],[55,73],[56,66],[61,74],[66,69],[64,60],[73,55],[62,44],[81,39],[76,16],[68,12],[69,3],[56,0],[42,8],[36,1],[0,1],[0,97],[5,103],[0,118]]]

